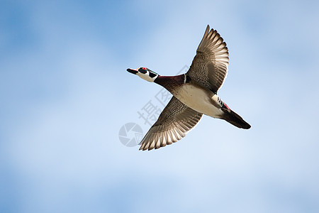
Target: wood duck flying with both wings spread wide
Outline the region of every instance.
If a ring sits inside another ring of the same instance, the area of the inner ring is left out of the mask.
[[[177,76],[161,76],[146,67],[128,69],[148,82],[155,82],[173,94],[155,124],[142,141],[140,150],[152,150],[172,144],[194,128],[203,114],[224,119],[242,129],[250,124],[231,110],[218,89],[228,72],[228,48],[217,31],[206,28],[188,72]]]

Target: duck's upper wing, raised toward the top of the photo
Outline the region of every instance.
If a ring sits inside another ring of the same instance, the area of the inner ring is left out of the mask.
[[[223,38],[217,31],[209,31],[208,25],[186,75],[217,92],[228,72],[228,56],[228,48]]]

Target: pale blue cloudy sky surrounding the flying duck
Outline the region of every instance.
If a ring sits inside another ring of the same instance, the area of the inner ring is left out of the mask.
[[[318,1],[1,1],[0,212],[318,212]],[[206,25],[228,44],[204,116],[141,152],[119,141]]]

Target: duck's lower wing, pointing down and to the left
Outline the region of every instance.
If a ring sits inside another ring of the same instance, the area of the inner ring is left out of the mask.
[[[203,114],[172,97],[155,124],[140,142],[140,150],[152,150],[172,144],[183,138]]]

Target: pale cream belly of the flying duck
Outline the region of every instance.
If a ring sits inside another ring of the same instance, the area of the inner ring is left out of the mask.
[[[219,118],[223,114],[223,111],[220,107],[216,107],[213,104],[214,95],[216,94],[211,92],[211,90],[203,89],[194,84],[184,84],[174,94],[180,102],[191,107],[191,109],[214,118]]]

